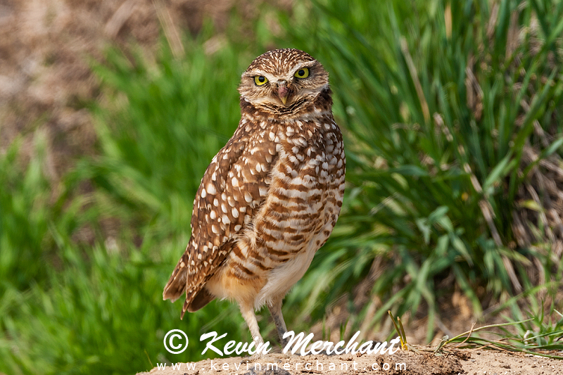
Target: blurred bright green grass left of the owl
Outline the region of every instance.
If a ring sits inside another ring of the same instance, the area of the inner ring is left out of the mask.
[[[130,374],[213,357],[201,356],[208,331],[248,341],[227,301],[181,321],[182,304],[162,299],[201,175],[238,123],[238,77],[258,53],[233,43],[209,56],[202,39],[181,59],[163,42],[155,65],[116,49],[93,63],[99,155],[77,160],[60,196],[39,136],[29,164],[18,165],[18,144],[1,156],[0,372]],[[77,240],[83,231],[93,243]],[[189,335],[181,355],[163,347],[170,329]]]

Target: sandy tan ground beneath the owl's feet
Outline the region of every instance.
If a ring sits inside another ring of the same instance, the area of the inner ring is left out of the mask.
[[[558,353],[562,355],[562,353]],[[277,369],[276,369],[277,364]],[[563,361],[537,355],[493,350],[458,350],[434,355],[420,350],[399,350],[393,355],[267,355],[248,362],[248,357],[231,357],[182,363],[176,369],[167,364],[137,375],[297,375],[297,374],[469,374],[469,375],[563,375]]]

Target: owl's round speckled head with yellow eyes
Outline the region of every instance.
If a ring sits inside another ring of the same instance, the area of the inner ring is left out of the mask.
[[[329,73],[298,49],[274,49],[255,58],[242,74],[239,92],[241,106],[249,103],[272,115],[310,111],[320,99],[325,107],[332,103]]]

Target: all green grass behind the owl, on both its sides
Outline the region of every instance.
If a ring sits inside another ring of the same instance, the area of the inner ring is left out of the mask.
[[[514,295],[509,262],[526,287],[530,257],[545,279],[562,279],[550,250],[509,246],[522,148],[562,153],[562,3],[315,1],[277,14],[276,38],[261,15],[254,37],[233,22],[214,52],[208,27],[186,39],[182,58],[165,39],[153,63],[109,49],[93,64],[99,153],[77,160],[62,186],[44,173],[40,132],[29,163],[18,142],[0,155],[1,372],[130,374],[201,360],[204,332],[248,341],[236,306],[216,301],[180,321],[180,303],[161,293],[205,167],[238,123],[240,74],[272,44],[329,70],[348,155],[339,224],[286,298],[291,329],[310,329],[365,281],[351,324],[372,329],[388,309],[423,309],[431,337],[441,293],[459,288],[476,314],[481,289]],[[557,135],[542,144],[535,124]],[[84,230],[91,243],[77,241]],[[182,355],[163,348],[170,329],[191,339]]]

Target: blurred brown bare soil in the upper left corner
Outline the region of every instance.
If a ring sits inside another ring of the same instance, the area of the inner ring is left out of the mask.
[[[46,171],[53,185],[73,160],[95,153],[86,103],[99,98],[91,61],[104,51],[139,46],[147,60],[164,34],[182,49],[184,32],[197,34],[209,18],[224,32],[236,10],[244,20],[260,1],[232,0],[4,0],[0,1],[0,153],[18,136],[32,155],[32,138],[46,136]]]

